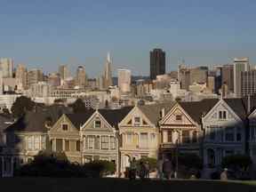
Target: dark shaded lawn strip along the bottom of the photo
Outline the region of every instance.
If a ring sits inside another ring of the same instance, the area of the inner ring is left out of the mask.
[[[256,192],[256,182],[221,182],[212,180],[122,180],[76,178],[4,178],[1,192]]]

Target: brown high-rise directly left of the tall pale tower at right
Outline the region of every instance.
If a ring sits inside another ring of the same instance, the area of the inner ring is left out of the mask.
[[[221,84],[227,84],[228,91],[234,92],[234,66],[233,65],[223,65],[220,68],[221,73]]]

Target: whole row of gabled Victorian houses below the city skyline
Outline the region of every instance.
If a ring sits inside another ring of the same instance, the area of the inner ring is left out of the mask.
[[[79,164],[112,161],[119,175],[131,157],[173,157],[178,148],[201,156],[204,168],[217,167],[223,156],[234,154],[250,155],[256,164],[255,105],[252,98],[206,99],[84,114],[60,106],[30,111],[12,124],[0,122],[2,176],[12,175],[13,167],[29,163],[44,149],[65,152]]]

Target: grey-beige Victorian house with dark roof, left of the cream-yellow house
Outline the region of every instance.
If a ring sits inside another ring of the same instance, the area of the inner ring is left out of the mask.
[[[80,126],[83,141],[82,162],[107,160],[116,164],[119,172],[118,124],[132,107],[120,109],[98,109]]]

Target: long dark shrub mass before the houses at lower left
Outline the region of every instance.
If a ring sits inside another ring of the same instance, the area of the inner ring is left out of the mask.
[[[16,176],[30,177],[91,177],[99,178],[116,172],[116,165],[108,161],[93,161],[84,165],[69,163],[65,153],[39,152],[30,164],[15,170]]]

